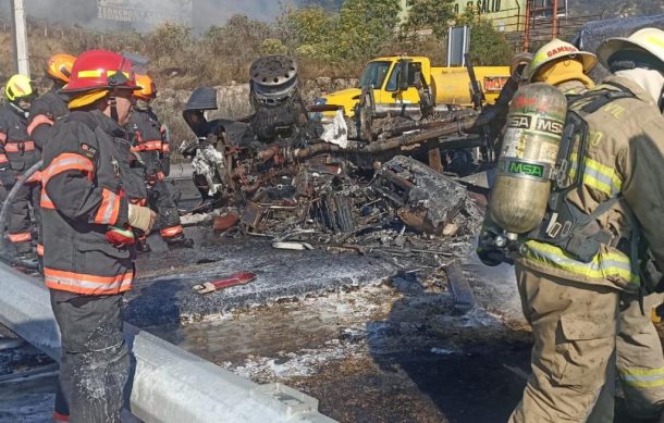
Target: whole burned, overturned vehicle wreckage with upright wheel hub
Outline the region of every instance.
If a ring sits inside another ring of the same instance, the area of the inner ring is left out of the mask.
[[[427,98],[428,88],[419,88]],[[440,236],[470,236],[481,211],[460,176],[490,165],[479,113],[426,102],[381,107],[371,94],[362,91],[352,121],[334,105],[307,107],[297,64],[283,55],[251,65],[251,116],[208,121],[217,90],[197,88],[183,112],[197,139],[180,151],[192,159],[199,210],[228,208],[217,229],[238,222],[286,249],[421,258],[436,256]]]

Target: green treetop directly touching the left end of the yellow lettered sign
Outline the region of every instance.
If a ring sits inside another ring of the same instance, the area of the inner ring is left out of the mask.
[[[402,30],[405,34],[431,29],[435,38],[445,37],[450,23],[454,18],[452,0],[413,0],[410,3],[408,17],[402,24]]]

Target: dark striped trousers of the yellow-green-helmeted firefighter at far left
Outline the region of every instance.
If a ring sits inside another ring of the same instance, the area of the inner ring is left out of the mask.
[[[40,227],[39,212],[39,184],[25,184],[21,187],[9,210],[9,240],[14,245],[17,253],[27,253],[33,250],[30,207],[35,213],[36,227]]]

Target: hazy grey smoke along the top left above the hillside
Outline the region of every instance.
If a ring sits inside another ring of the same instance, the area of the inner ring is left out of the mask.
[[[127,7],[144,13],[169,13],[188,10],[190,16],[184,23],[196,32],[210,25],[224,25],[235,14],[244,14],[251,20],[273,21],[283,8],[294,5],[294,0],[24,0],[28,17],[54,23],[81,25],[95,28],[120,29],[132,27],[148,30],[159,22],[115,22],[97,17],[98,4]],[[10,2],[0,1],[0,12],[10,14]]]

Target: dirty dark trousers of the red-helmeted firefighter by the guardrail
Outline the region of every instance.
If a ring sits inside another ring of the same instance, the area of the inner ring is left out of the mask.
[[[50,294],[62,338],[59,385],[70,421],[120,423],[130,373],[122,295],[82,296],[53,289]],[[57,405],[56,411],[62,407]]]

